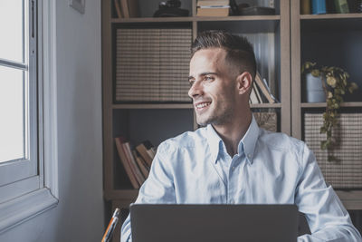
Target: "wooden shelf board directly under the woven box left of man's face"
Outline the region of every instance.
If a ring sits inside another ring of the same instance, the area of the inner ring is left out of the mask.
[[[113,104],[114,110],[161,110],[161,109],[194,109],[192,103],[153,103],[153,104]]]

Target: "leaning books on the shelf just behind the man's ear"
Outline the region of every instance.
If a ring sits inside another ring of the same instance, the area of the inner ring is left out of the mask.
[[[268,83],[262,79],[259,73],[255,75],[255,82],[252,82],[252,92],[250,92],[249,103],[274,103],[276,99],[271,94]]]

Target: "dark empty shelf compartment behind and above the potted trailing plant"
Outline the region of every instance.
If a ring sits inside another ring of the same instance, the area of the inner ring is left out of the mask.
[[[345,102],[362,102],[362,18],[304,20],[300,38],[300,65],[308,61],[344,69],[350,75],[348,82],[356,82],[359,87],[344,96]]]

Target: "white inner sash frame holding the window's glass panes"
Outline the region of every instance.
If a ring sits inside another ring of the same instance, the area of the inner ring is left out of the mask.
[[[37,104],[37,33],[33,23],[32,7],[36,7],[33,0],[23,0],[23,18],[28,19],[23,27],[23,63],[1,60],[3,66],[12,70],[23,71],[24,78],[24,155],[25,159],[9,160],[0,163],[0,194],[6,196],[0,198],[0,202],[14,198],[35,189],[39,189],[40,156],[38,156],[38,104]],[[41,117],[41,115],[39,115]],[[36,178],[38,177],[38,178]],[[26,186],[22,185],[25,184]],[[8,184],[9,186],[7,186]],[[15,190],[14,190],[15,189]]]

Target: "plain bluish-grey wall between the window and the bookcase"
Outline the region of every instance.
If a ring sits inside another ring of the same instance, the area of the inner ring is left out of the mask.
[[[100,241],[102,198],[100,0],[85,15],[57,0],[59,204],[1,242]]]

